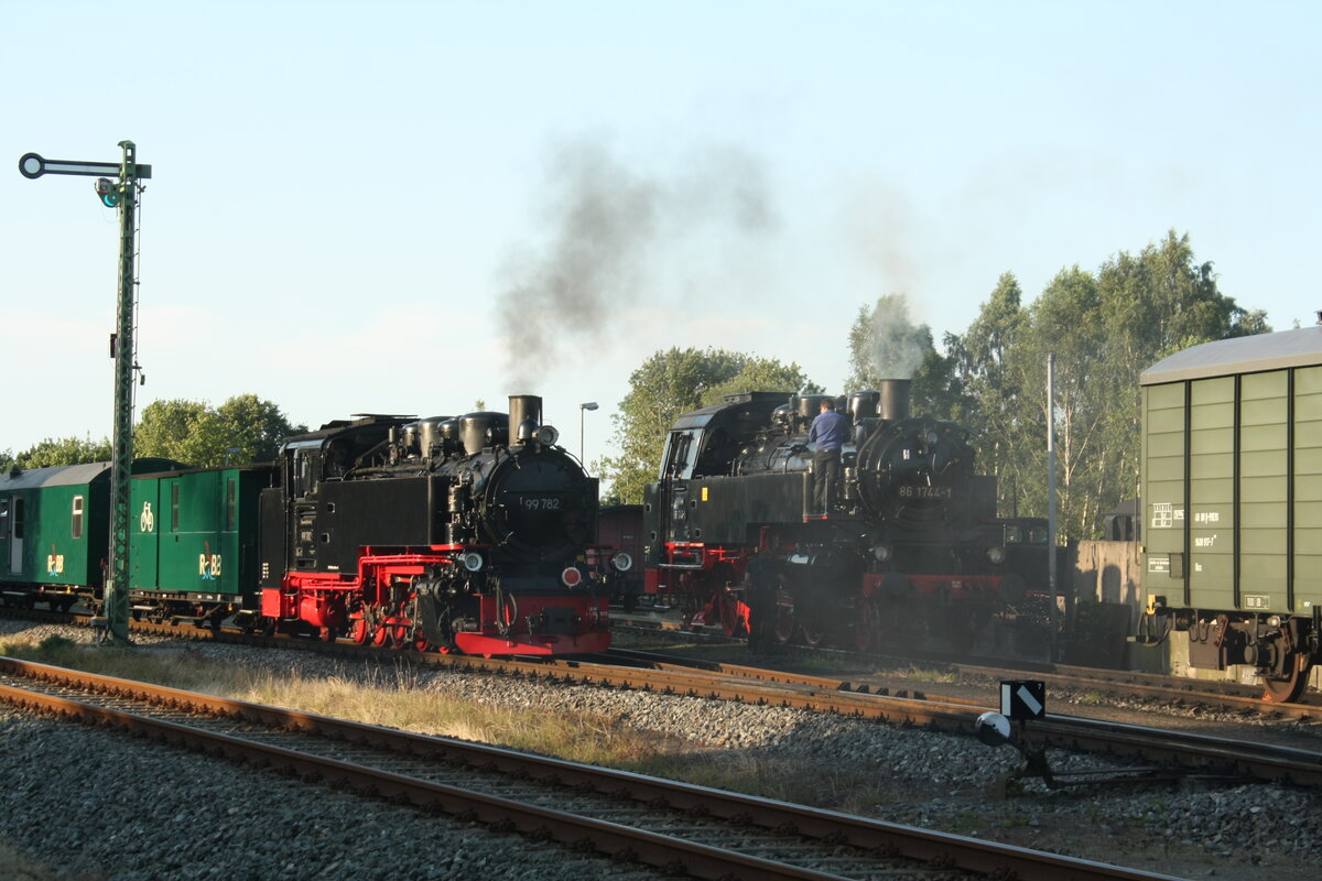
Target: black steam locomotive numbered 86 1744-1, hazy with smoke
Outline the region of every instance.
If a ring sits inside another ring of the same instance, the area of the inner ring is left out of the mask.
[[[910,416],[908,380],[849,396],[842,486],[813,510],[806,444],[824,398],[748,392],[680,417],[645,493],[648,592],[739,633],[743,575],[764,548],[780,560],[781,641],[867,650],[937,637],[966,651],[1022,600],[1025,575],[1044,573],[1046,528],[995,519],[995,478],[974,473],[968,433]]]

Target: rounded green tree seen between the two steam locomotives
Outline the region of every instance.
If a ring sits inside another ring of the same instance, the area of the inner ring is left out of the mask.
[[[611,483],[612,502],[641,502],[642,487],[656,479],[666,433],[690,409],[718,403],[739,391],[784,391],[808,386],[798,365],[726,351],[670,349],[657,351],[629,375],[629,392],[611,416],[619,456],[594,462]]]

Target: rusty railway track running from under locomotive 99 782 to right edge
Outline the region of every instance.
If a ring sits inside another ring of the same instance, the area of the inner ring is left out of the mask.
[[[38,619],[46,613],[25,613]],[[53,617],[53,616],[52,616]],[[977,719],[989,704],[925,691],[880,693],[869,686],[824,676],[710,662],[683,663],[654,652],[611,650],[598,659],[521,660],[517,658],[476,658],[399,652],[352,643],[323,643],[288,637],[258,637],[230,630],[202,630],[134,622],[135,629],[173,635],[222,639],[242,645],[345,652],[391,660],[517,674],[537,679],[637,688],[660,693],[691,695],[735,700],[755,705],[775,705],[812,712],[884,721],[973,736]],[[1003,674],[1005,671],[994,671]],[[1036,675],[1036,674],[1035,674]],[[1273,704],[1273,707],[1281,707]],[[1136,757],[1153,762],[1141,778],[1169,778],[1171,774],[1219,777],[1227,781],[1260,779],[1301,786],[1322,786],[1322,754],[1264,744],[1243,744],[1187,732],[1142,725],[1097,721],[1072,716],[1048,716],[1022,728],[1018,742],[1026,753],[1048,748]]]

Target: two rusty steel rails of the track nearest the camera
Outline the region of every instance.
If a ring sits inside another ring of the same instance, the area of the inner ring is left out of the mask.
[[[640,802],[665,803],[672,808],[702,812],[728,820],[760,826],[779,833],[821,839],[830,844],[850,845],[883,857],[904,857],[928,863],[935,868],[992,873],[1002,878],[1130,878],[1154,881],[1169,878],[1136,869],[1079,860],[1002,845],[966,836],[919,829],[915,827],[871,820],[833,811],[739,795],[702,786],[677,783],[627,771],[578,765],[562,759],[516,753],[501,748],[449,738],[412,734],[315,713],[238,701],[210,695],[137,683],[114,676],[36,664],[0,658],[0,670],[16,676],[48,682],[59,687],[81,688],[114,696],[132,696],[152,704],[189,709],[208,715],[235,716],[247,721],[356,744],[389,748],[418,758],[465,763],[521,774],[557,786],[591,787],[599,793],[620,794]],[[775,860],[748,856],[673,836],[627,827],[617,823],[578,816],[525,804],[513,799],[423,781],[405,774],[368,769],[349,762],[312,756],[287,748],[258,744],[218,732],[208,732],[168,720],[149,719],[106,707],[95,707],[67,696],[0,684],[0,699],[9,703],[46,709],[98,725],[114,725],[147,733],[180,746],[201,744],[212,756],[255,762],[304,779],[320,779],[329,786],[350,786],[360,791],[397,803],[424,810],[439,810],[479,819],[489,826],[517,829],[534,837],[554,837],[576,848],[628,857],[648,865],[676,870],[681,864],[689,874],[701,878],[804,878],[832,880],[842,876],[808,868],[785,865]]]

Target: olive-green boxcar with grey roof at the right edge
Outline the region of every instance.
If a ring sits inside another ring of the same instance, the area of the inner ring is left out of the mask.
[[[1194,346],[1140,384],[1147,613],[1192,667],[1294,700],[1322,658],[1322,326]]]

